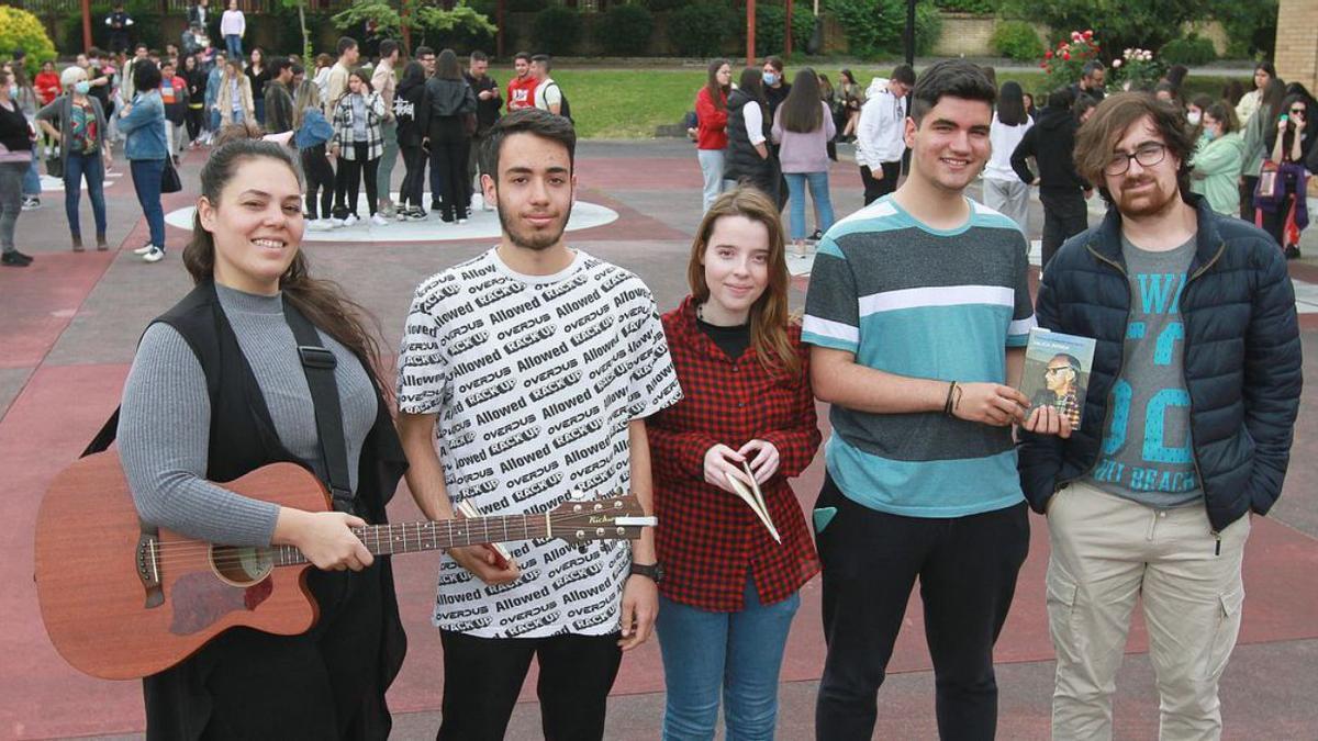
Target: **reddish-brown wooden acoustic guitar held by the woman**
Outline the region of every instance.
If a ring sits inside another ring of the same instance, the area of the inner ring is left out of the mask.
[[[291,463],[258,468],[224,488],[308,512],[330,493]],[[353,529],[374,555],[538,538],[572,543],[635,539],[654,526],[635,496],[568,501],[558,509]],[[233,547],[161,529],[144,533],[119,454],[79,459],[55,477],[37,513],[41,617],[59,655],[104,679],[163,671],[231,628],[297,636],[316,621],[310,562],[293,546]]]

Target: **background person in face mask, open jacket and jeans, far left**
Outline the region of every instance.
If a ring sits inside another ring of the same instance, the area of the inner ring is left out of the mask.
[[[78,210],[82,202],[82,183],[87,182],[87,198],[96,220],[96,249],[105,251],[105,170],[111,165],[105,146],[105,111],[100,100],[91,95],[87,71],[67,67],[59,76],[65,95],[37,111],[37,125],[59,142],[59,158],[65,173],[65,215],[74,252],[82,252],[82,228]],[[58,128],[55,128],[58,127]]]

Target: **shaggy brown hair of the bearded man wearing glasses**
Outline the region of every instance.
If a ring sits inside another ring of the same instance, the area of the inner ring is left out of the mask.
[[[1149,92],[1118,92],[1094,108],[1094,116],[1075,132],[1075,171],[1099,186],[1099,193],[1111,203],[1112,194],[1103,186],[1103,170],[1112,161],[1112,146],[1132,124],[1148,119],[1153,131],[1162,137],[1166,157],[1176,157],[1181,167],[1176,171],[1176,185],[1181,198],[1190,203],[1190,157],[1194,154],[1194,134],[1185,113]]]

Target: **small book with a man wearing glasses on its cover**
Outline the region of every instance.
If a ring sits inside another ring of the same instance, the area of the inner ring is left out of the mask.
[[[1085,411],[1085,389],[1094,365],[1094,340],[1077,335],[1050,332],[1043,327],[1029,331],[1025,347],[1025,372],[1020,378],[1020,393],[1029,400],[1029,407],[1052,406],[1079,427]]]

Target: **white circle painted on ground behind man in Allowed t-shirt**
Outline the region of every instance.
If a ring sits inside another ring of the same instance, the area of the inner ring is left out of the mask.
[[[397,199],[398,194],[394,194]],[[430,194],[426,200],[430,202]],[[192,228],[192,206],[170,211],[165,215],[165,223],[181,229]],[[357,214],[369,214],[366,196],[357,196]],[[602,227],[618,220],[618,212],[596,203],[577,200],[572,206],[572,218],[568,220],[567,231],[575,232]],[[445,224],[439,218],[439,211],[431,211],[424,222],[398,222],[390,220],[384,227],[377,227],[362,219],[351,227],[337,229],[316,231],[307,229],[303,241],[448,241],[448,240],[481,240],[498,239],[502,233],[498,223],[498,214],[481,210],[481,196],[472,199],[472,215],[465,224]]]

